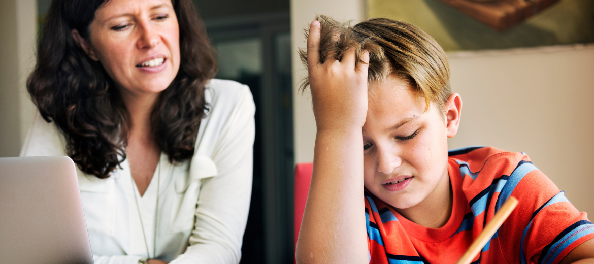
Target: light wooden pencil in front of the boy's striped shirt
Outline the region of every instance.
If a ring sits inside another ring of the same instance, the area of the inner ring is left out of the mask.
[[[518,200],[510,196],[507,201],[501,206],[501,208],[495,213],[491,221],[486,224],[485,229],[479,234],[476,240],[470,244],[470,247],[466,252],[460,257],[457,264],[470,264],[472,260],[476,257],[481,249],[485,246],[485,244],[491,239],[493,234],[497,232],[501,224],[510,216],[510,213],[516,208],[518,204]]]

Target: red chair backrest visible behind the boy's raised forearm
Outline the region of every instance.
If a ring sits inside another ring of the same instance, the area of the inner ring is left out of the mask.
[[[313,169],[314,164],[312,163],[302,163],[295,166],[295,246],[297,246],[299,227],[301,227],[301,219],[303,218],[303,210],[307,201]]]

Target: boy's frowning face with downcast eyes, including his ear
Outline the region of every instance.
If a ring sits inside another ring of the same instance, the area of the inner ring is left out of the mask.
[[[448,111],[455,96],[460,99],[450,96],[444,115],[434,103],[425,111],[425,99],[400,78],[369,83],[363,126],[367,190],[399,209],[444,199],[438,194],[449,188],[447,137],[456,134],[459,121],[459,114]]]

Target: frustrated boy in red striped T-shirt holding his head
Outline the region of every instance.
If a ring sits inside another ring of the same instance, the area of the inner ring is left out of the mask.
[[[299,263],[455,263],[510,196],[473,263],[594,263],[594,225],[524,153],[448,152],[462,98],[434,39],[385,18],[320,22],[301,52],[317,136]]]

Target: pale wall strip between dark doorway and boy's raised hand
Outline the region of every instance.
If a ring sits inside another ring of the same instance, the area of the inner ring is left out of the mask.
[[[293,54],[293,130],[295,135],[295,162],[314,160],[315,121],[311,109],[309,92],[301,95],[297,85],[307,75],[307,68],[301,64],[297,55],[299,48],[306,48],[303,30],[314,21],[315,15],[329,15],[337,20],[365,18],[362,0],[291,0],[291,45]]]

